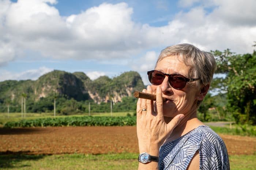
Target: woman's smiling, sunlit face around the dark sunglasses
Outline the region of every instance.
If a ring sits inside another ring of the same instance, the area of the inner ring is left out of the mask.
[[[190,74],[190,67],[181,62],[181,58],[177,56],[169,56],[157,63],[155,70],[159,70],[166,74],[181,74],[187,78]],[[197,103],[197,95],[199,88],[195,82],[187,82],[186,86],[181,90],[174,89],[165,76],[162,84],[158,85],[162,88],[163,97],[168,100],[163,103],[163,114],[166,117],[174,117],[177,114],[189,114],[195,111]],[[156,93],[157,86],[152,85],[153,94]]]

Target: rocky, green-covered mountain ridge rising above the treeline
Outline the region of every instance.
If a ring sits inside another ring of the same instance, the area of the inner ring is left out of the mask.
[[[138,72],[124,72],[113,79],[101,76],[91,80],[83,72],[69,73],[54,70],[37,80],[6,80],[0,82],[0,104],[20,103],[22,94],[28,100],[37,101],[49,96],[65,96],[77,101],[93,99],[94,102],[121,102],[124,96],[132,96],[135,90],[141,91],[144,84]]]

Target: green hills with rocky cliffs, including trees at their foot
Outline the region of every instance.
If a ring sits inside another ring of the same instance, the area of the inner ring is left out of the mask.
[[[54,70],[42,75],[37,80],[6,80],[0,82],[0,112],[21,111],[22,96],[26,98],[27,112],[50,112],[53,110],[53,100],[56,99],[58,113],[88,111],[88,103],[102,103],[93,111],[110,111],[110,100],[116,103],[115,111],[131,110],[136,102],[132,94],[142,90],[144,84],[138,72],[129,71],[114,77],[101,76],[91,80],[83,72],[69,73]],[[123,100],[133,103],[120,104]],[[106,103],[106,104],[104,104]]]

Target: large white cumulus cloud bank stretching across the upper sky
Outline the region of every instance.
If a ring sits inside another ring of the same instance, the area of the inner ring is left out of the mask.
[[[135,23],[127,3],[103,3],[61,16],[56,0],[0,1],[0,65],[25,51],[53,59],[118,60],[181,42],[206,50],[252,52],[256,1],[181,0],[184,7],[161,27]],[[199,5],[198,5],[199,4]],[[3,10],[2,10],[3,9]],[[141,70],[145,70],[146,66]]]

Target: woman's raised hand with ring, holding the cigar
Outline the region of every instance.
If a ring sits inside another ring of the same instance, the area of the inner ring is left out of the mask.
[[[152,87],[147,86],[143,92],[152,94]],[[161,87],[157,87],[155,107],[152,100],[138,99],[137,102],[137,136],[140,153],[147,152],[159,156],[159,148],[173,129],[184,118],[183,114],[175,116],[168,124],[163,119],[163,99]],[[146,110],[145,110],[146,109]]]

